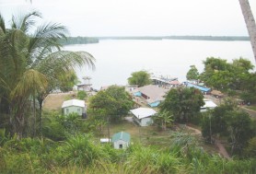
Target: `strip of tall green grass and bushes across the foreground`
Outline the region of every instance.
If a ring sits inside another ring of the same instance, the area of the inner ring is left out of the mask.
[[[174,133],[169,150],[131,145],[115,150],[88,134],[63,143],[47,139],[8,140],[0,146],[0,173],[254,173],[255,158],[209,155],[188,133]]]

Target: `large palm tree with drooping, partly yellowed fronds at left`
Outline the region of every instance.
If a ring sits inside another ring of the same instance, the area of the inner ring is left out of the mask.
[[[35,29],[36,17],[41,14],[31,12],[12,17],[11,29],[6,29],[0,15],[0,102],[8,106],[13,132],[19,137],[22,137],[28,109],[36,116],[35,99],[40,104],[41,120],[42,101],[58,87],[60,76],[85,64],[94,68],[95,61],[88,52],[61,51],[58,41],[65,38],[67,29],[54,23]]]

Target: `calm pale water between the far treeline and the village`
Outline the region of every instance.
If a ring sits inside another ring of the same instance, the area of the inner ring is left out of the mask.
[[[255,65],[250,41],[141,41],[106,40],[96,44],[68,45],[68,51],[85,51],[96,58],[96,70],[86,67],[77,75],[88,75],[94,88],[109,85],[126,85],[131,73],[146,70],[155,75],[175,76],[182,82],[190,65],[201,73],[206,57],[220,57],[231,62],[239,57],[247,58]]]

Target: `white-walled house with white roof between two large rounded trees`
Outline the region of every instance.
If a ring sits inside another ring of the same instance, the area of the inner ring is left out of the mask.
[[[140,126],[148,126],[153,123],[152,116],[154,116],[157,111],[151,108],[137,108],[130,110],[134,114],[134,122],[137,122]]]

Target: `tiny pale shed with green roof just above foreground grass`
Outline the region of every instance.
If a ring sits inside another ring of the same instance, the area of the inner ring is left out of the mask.
[[[130,145],[131,135],[129,133],[115,133],[111,138],[111,142],[115,149],[125,149]]]

